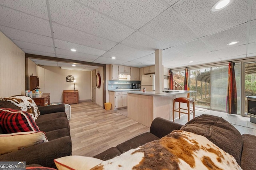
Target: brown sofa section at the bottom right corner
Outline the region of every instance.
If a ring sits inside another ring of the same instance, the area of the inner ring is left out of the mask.
[[[243,134],[244,145],[241,156],[241,168],[243,170],[253,170],[256,165],[256,136]]]

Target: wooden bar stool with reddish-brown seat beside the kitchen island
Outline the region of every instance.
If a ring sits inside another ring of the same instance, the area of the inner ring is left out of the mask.
[[[179,102],[179,108],[178,109],[175,109],[175,102]],[[188,109],[180,108],[180,103],[186,103]],[[190,110],[190,103],[192,103],[192,105],[193,105],[193,110]],[[187,112],[180,111],[180,109],[186,110]],[[176,99],[173,100],[173,107],[172,107],[172,119],[173,119],[173,122],[174,122],[174,111],[179,112],[179,119],[180,119],[180,113],[187,114],[188,115],[188,121],[189,121],[190,113],[193,113],[193,117],[195,117],[195,102],[194,102],[194,99],[190,99],[190,98],[176,98]]]

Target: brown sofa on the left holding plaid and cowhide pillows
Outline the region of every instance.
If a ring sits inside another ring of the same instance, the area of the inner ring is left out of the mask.
[[[2,107],[19,110],[7,101],[0,101],[0,108]],[[38,109],[40,115],[36,119],[36,125],[46,133],[49,142],[3,154],[0,161],[26,161],[26,165],[39,164],[56,168],[54,159],[71,155],[72,143],[65,105],[40,106]],[[2,134],[1,128],[0,133]]]

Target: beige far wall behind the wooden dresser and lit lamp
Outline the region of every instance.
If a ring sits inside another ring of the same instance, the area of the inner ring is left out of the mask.
[[[63,101],[63,90],[74,90],[74,83],[66,82],[66,76],[72,75],[76,80],[79,100],[91,100],[91,72],[64,70],[56,66],[38,66],[40,91],[50,94],[51,103]]]

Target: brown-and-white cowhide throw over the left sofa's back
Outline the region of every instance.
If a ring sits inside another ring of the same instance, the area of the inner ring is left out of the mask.
[[[18,95],[18,96],[12,96],[9,98],[1,98],[0,100],[11,102],[15,106],[19,107],[20,110],[30,113],[34,121],[40,115],[40,111],[38,110],[36,103],[32,98],[28,96]]]

